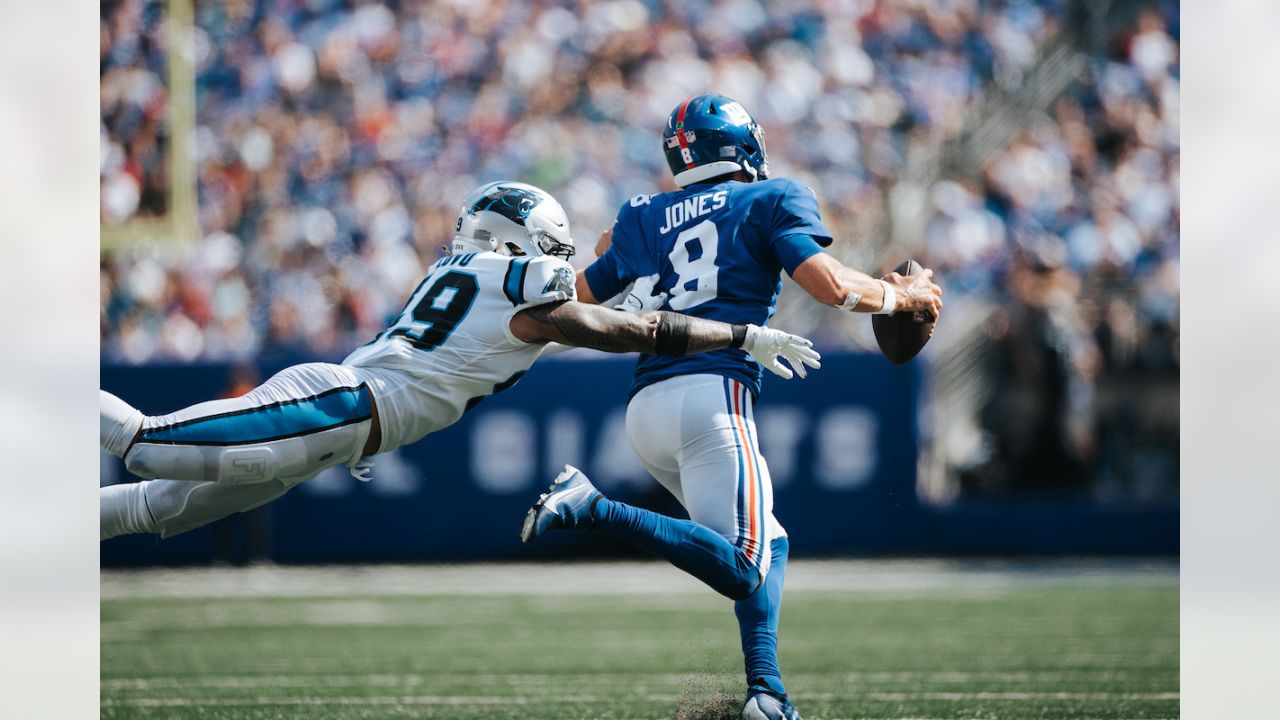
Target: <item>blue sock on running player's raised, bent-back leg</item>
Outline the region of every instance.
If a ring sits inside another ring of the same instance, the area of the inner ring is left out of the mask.
[[[760,571],[746,553],[692,520],[677,520],[603,497],[591,512],[596,530],[666,559],[730,600],[749,597],[760,584]]]

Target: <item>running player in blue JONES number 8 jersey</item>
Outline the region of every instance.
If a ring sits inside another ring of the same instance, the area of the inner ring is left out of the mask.
[[[662,141],[681,190],[622,205],[612,241],[602,238],[608,249],[577,275],[580,300],[599,302],[628,283],[652,282],[657,306],[764,325],[785,270],[814,299],[842,310],[940,311],[942,291],[932,270],[877,279],[822,251],[832,236],[818,199],[799,182],[769,178],[764,129],[740,104],[714,94],[690,97],[672,111]],[[806,374],[803,364],[795,372]],[[773,516],[769,470],[753,419],[760,377],[760,365],[733,348],[689,357],[641,355],[627,434],[690,520],[608,500],[566,466],[530,509],[521,538],[529,542],[553,528],[605,532],[730,597],[746,666],[742,717],[797,720],[777,661],[787,534]]]

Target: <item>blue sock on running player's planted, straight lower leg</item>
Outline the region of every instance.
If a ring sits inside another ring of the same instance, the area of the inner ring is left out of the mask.
[[[767,691],[786,697],[782,670],[778,669],[778,611],[782,609],[782,582],[787,571],[787,538],[771,543],[773,557],[764,584],[746,600],[733,603],[742,633],[742,659],[750,691]]]

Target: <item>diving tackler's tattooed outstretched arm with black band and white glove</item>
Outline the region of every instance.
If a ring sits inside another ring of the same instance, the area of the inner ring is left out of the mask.
[[[516,313],[511,332],[525,342],[554,341],[605,352],[694,355],[722,347],[741,347],[769,370],[791,377],[783,357],[800,377],[819,368],[820,356],[808,340],[756,325],[730,325],[664,310],[616,313],[598,305],[566,300]]]

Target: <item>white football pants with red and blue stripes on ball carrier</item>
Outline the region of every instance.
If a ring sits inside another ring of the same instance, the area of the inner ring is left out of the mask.
[[[640,462],[689,518],[769,570],[769,543],[786,537],[773,516],[773,483],[760,455],[751,393],[721,375],[681,375],[643,388],[627,405]]]

